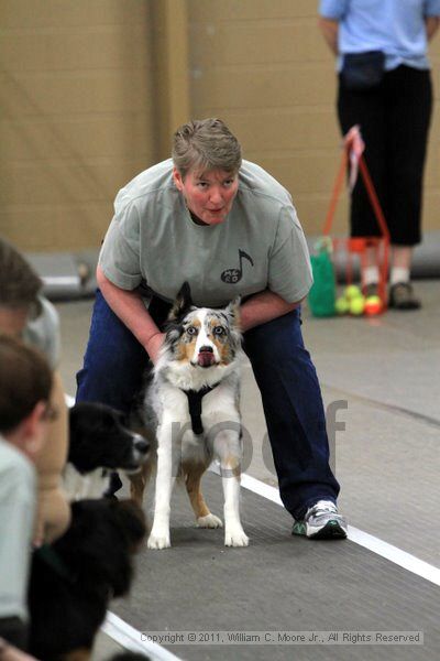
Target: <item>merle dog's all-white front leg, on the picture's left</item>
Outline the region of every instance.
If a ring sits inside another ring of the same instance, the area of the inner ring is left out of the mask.
[[[169,541],[169,509],[174,481],[173,440],[170,424],[157,429],[157,475],[153,528],[148,537],[148,549],[167,549]]]

